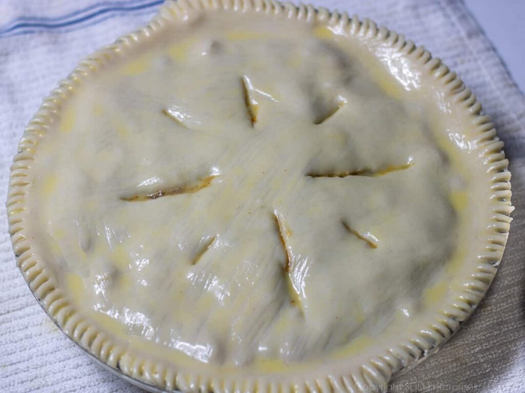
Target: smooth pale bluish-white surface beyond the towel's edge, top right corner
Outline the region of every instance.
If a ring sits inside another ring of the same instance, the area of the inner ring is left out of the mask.
[[[525,91],[525,0],[465,0],[479,25]]]

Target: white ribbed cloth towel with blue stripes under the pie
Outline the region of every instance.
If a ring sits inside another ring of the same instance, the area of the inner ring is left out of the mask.
[[[17,142],[41,99],[80,59],[145,24],[160,1],[1,1],[0,200],[5,201]],[[312,1],[370,17],[442,58],[492,116],[510,159],[516,211],[496,280],[459,333],[388,391],[524,391],[525,98],[462,1]],[[15,266],[5,209],[0,228],[0,391],[141,391],[95,364],[57,330]]]

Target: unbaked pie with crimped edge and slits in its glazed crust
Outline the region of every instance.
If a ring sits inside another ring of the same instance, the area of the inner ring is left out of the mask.
[[[10,233],[51,318],[146,387],[370,390],[487,291],[502,147],[455,73],[369,20],[168,2],[45,99]]]

